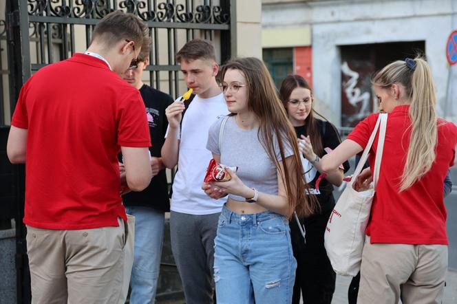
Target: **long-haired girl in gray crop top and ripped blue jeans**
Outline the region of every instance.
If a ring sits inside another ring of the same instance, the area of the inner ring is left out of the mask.
[[[228,182],[202,186],[226,199],[215,238],[217,302],[290,303],[297,263],[288,218],[313,210],[295,131],[262,61],[235,58],[221,74],[233,114],[211,126],[206,147],[217,162],[238,169]]]

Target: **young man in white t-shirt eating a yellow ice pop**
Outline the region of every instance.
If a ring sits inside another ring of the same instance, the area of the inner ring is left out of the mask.
[[[187,304],[213,303],[214,238],[224,201],[209,198],[202,182],[211,153],[208,130],[217,117],[228,114],[215,76],[219,65],[209,41],[194,39],[176,54],[193,98],[184,118],[181,97],[167,107],[169,121],[162,146],[167,168],[178,164],[171,197],[171,250],[181,276]],[[182,119],[182,124],[181,124]]]

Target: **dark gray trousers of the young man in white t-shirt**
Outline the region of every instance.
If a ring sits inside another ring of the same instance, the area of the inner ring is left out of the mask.
[[[171,250],[187,304],[213,303],[214,238],[219,215],[189,215],[171,211]]]

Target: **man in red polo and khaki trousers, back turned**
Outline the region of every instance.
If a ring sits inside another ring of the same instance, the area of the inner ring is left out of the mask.
[[[124,303],[127,186],[151,182],[149,128],[138,89],[120,74],[149,31],[112,12],[85,54],[43,67],[21,89],[8,158],[25,162],[25,216],[32,303]],[[127,270],[128,271],[128,270]]]

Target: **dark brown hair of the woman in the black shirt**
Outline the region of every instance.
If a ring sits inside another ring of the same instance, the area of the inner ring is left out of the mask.
[[[311,98],[313,98],[312,89],[311,89],[308,81],[305,80],[305,78],[303,78],[302,76],[299,76],[299,75],[288,75],[288,76],[286,76],[286,78],[284,78],[284,80],[282,80],[281,89],[279,89],[279,97],[281,98],[281,101],[284,105],[284,109],[287,109],[286,105],[287,105],[287,102],[289,101],[290,94],[292,94],[292,91],[294,89],[297,89],[297,87],[303,87],[304,89],[309,89],[311,92]],[[322,157],[324,152],[323,152],[321,131],[319,130],[319,125],[317,124],[317,119],[315,118],[314,113],[316,113],[318,116],[323,118],[323,120],[326,120],[326,121],[328,121],[328,120],[326,118],[324,118],[323,116],[321,116],[321,114],[317,113],[317,111],[315,111],[313,104],[314,104],[314,100],[312,100],[311,111],[310,111],[308,117],[305,119],[305,128],[306,128],[306,132],[308,133],[308,135],[310,135],[312,149],[315,151],[315,153],[317,155]],[[332,127],[333,127],[333,125],[332,125]],[[323,135],[325,135],[325,134],[323,134]]]

